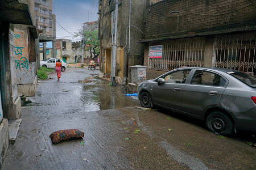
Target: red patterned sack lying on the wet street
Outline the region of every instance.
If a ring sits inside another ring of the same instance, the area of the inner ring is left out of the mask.
[[[56,144],[62,141],[82,138],[84,133],[77,129],[67,129],[55,131],[49,137],[52,139],[52,143]]]

